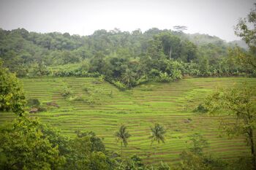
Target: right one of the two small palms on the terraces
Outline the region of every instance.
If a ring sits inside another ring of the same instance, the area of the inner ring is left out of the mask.
[[[154,127],[151,127],[151,136],[149,137],[151,139],[151,145],[155,142],[157,144],[159,143],[165,143],[165,128],[162,125],[159,125],[159,123],[155,123]],[[156,147],[154,148],[154,157],[156,157]]]

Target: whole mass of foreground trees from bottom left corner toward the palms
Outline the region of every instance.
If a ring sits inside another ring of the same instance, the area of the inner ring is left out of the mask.
[[[0,128],[0,169],[114,169],[94,133],[67,139],[33,117]]]

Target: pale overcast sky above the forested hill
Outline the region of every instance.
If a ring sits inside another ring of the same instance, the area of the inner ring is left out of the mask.
[[[133,31],[187,26],[187,33],[239,39],[233,26],[253,0],[0,0],[0,28],[88,35],[97,29]]]

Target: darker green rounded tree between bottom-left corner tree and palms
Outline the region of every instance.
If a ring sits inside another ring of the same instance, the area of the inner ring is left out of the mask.
[[[79,132],[69,144],[71,152],[66,169],[113,169],[116,165],[105,150],[102,140],[93,132]]]

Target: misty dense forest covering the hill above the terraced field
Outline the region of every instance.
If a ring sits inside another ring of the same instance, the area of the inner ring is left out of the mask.
[[[120,89],[187,76],[255,77],[255,28],[250,24],[255,24],[255,9],[236,26],[246,49],[182,29],[98,30],[90,36],[0,29],[0,58],[18,77],[102,75]]]

